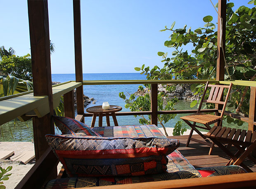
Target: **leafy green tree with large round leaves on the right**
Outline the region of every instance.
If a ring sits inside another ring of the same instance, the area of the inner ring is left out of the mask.
[[[256,0],[249,1],[249,4],[256,5]],[[218,4],[216,5],[218,7]],[[239,7],[232,10],[234,3],[227,4],[226,23],[226,43],[225,45],[225,79],[230,80],[250,80],[256,79],[256,7]],[[217,14],[216,14],[217,15]],[[174,48],[172,56],[168,53],[158,52],[163,58],[164,67],[155,66],[135,67],[135,70],[145,74],[147,79],[215,79],[217,60],[217,32],[215,24],[211,23],[212,16],[205,16],[204,27],[173,29],[175,22],[170,28],[164,30],[171,31],[170,39],[164,42],[164,46]],[[184,51],[187,44],[192,44],[192,52]],[[204,85],[191,85],[191,90],[195,94],[201,94]],[[249,88],[235,85],[230,95],[230,104],[227,108],[239,114],[249,113]],[[191,106],[195,106],[197,101],[193,101]],[[208,104],[207,104],[208,105]],[[241,121],[228,118],[228,123],[235,122],[239,125]]]

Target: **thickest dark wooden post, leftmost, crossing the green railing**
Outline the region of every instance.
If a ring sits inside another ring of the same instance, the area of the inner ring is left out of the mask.
[[[33,118],[36,161],[49,148],[45,134],[55,134],[52,121],[52,76],[50,62],[50,37],[47,0],[28,0],[28,20],[31,44],[34,96],[49,97],[50,113]],[[56,169],[57,174],[57,169]]]

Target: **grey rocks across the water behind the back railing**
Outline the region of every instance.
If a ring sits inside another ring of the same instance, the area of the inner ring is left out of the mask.
[[[166,84],[166,85],[158,84],[158,93],[164,92],[164,94],[167,97],[163,97],[163,98],[166,100],[172,99],[174,97],[176,97],[177,99],[190,100],[190,101],[200,99],[199,95],[193,95],[193,92],[190,89],[191,85],[189,84],[178,84],[176,85],[176,88],[174,91],[169,92],[168,90],[166,90],[166,87],[171,85],[175,85],[175,84]],[[135,95],[137,96],[144,96],[145,94],[150,95],[149,88],[144,88],[143,90],[138,89],[137,92],[135,92]]]

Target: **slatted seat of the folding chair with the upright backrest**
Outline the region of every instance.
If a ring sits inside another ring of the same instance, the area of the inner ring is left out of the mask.
[[[181,117],[180,119],[202,123],[202,124],[212,124],[220,120],[220,116],[218,115],[211,115],[211,114],[205,114],[205,113],[193,113],[190,115],[186,115]]]

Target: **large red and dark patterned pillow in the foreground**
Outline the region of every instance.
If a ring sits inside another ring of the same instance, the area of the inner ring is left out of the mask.
[[[166,155],[180,144],[169,138],[45,137],[70,177],[166,172]]]

